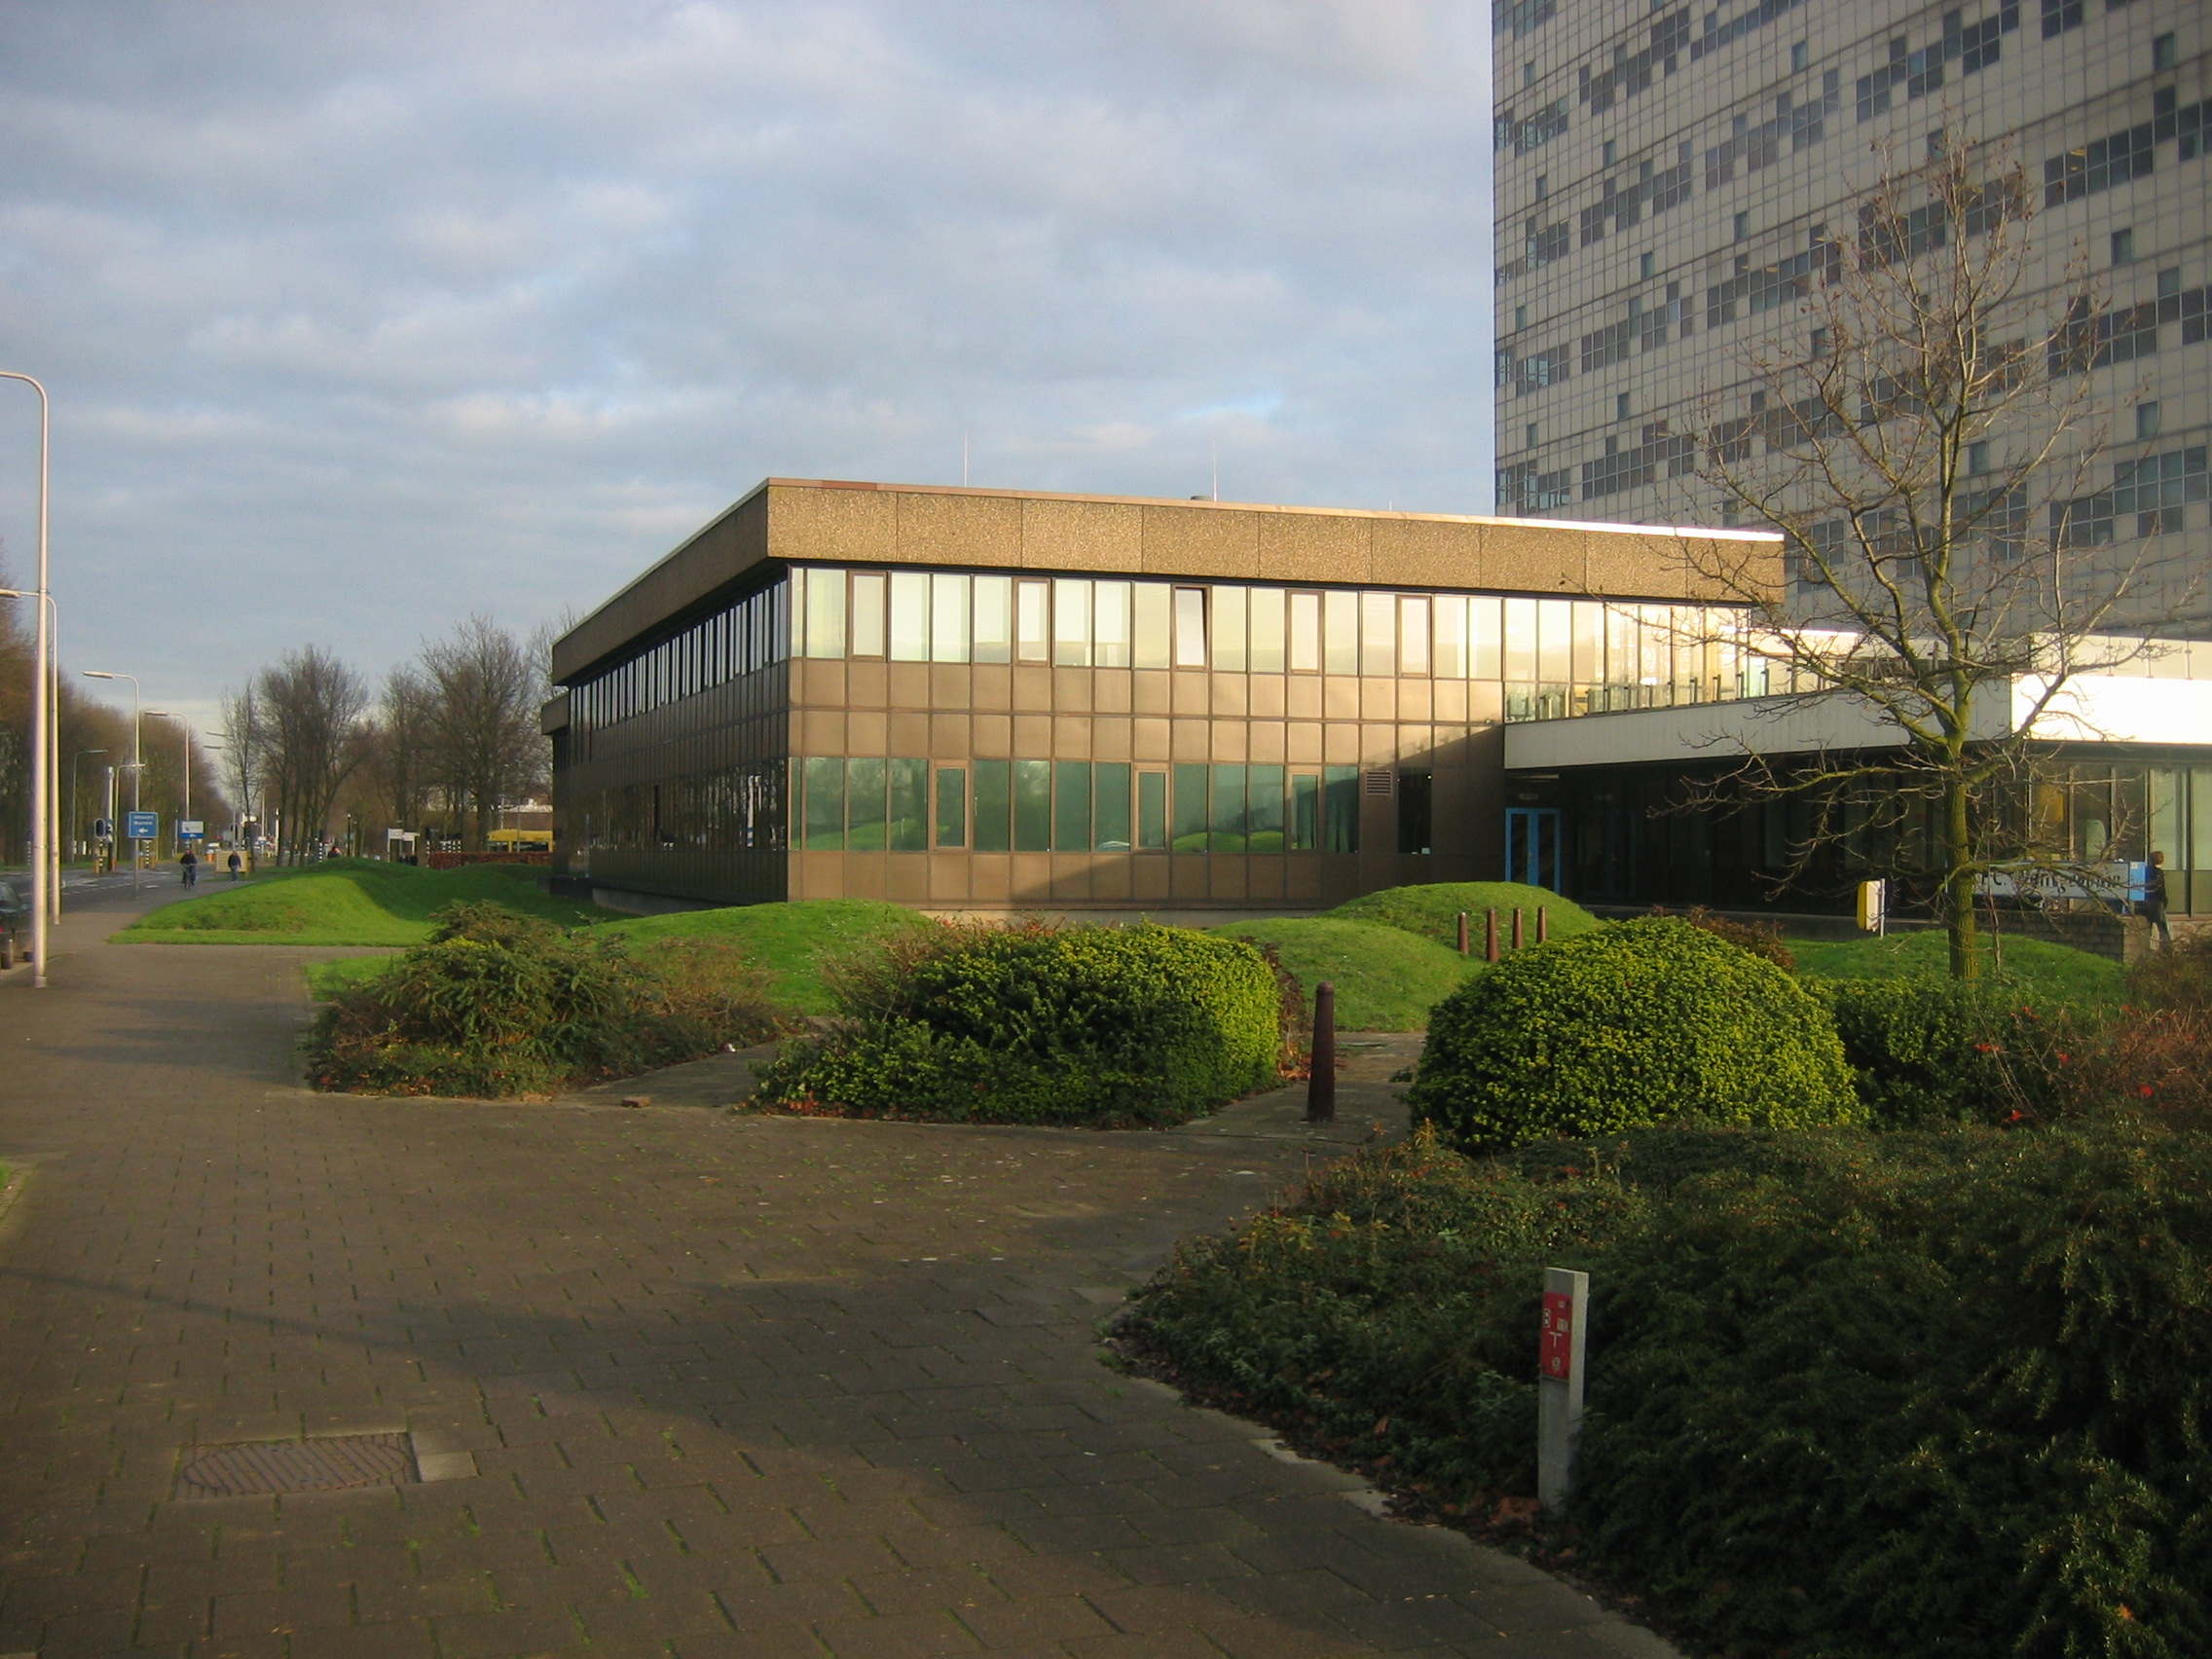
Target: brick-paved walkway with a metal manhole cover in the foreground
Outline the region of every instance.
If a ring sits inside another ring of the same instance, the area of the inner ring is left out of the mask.
[[[1099,1365],[1175,1237],[1296,1179],[1285,1102],[314,1097],[314,953],[106,947],[102,902],[51,991],[0,978],[0,1655],[1668,1652]],[[400,1431],[420,1484],[179,1495],[208,1447]]]

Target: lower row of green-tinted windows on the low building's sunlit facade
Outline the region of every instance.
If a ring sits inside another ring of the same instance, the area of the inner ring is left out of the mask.
[[[1352,765],[841,759],[794,765],[807,852],[1358,852]],[[1389,792],[1389,774],[1383,787]],[[1427,785],[1427,774],[1420,776]],[[1427,787],[1416,787],[1427,818]],[[1429,852],[1427,825],[1422,845]]]

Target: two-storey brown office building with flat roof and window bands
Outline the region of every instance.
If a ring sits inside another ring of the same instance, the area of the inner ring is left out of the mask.
[[[772,478],[553,653],[615,902],[1294,911],[1559,885],[1509,719],[1736,697],[1778,538]]]

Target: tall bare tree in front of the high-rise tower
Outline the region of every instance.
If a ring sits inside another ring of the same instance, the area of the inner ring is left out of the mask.
[[[2112,325],[2079,257],[2053,314],[2033,204],[2008,157],[1887,170],[1856,237],[1772,272],[1763,296],[1790,321],[1743,356],[1743,400],[1708,409],[1697,469],[1736,520],[1785,535],[1781,597],[1701,571],[1752,608],[1739,648],[1772,690],[1849,699],[1902,734],[1887,759],[1745,754],[1725,787],[1814,805],[1801,867],[1869,807],[1920,814],[1960,980],[1978,973],[1978,880],[2057,856],[2011,805],[2037,717],[2075,675],[2146,650],[2106,633],[2143,624],[2146,584],[2088,487],[2104,451],[2088,372],[2112,361]]]

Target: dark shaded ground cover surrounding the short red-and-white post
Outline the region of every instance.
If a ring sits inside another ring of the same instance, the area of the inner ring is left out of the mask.
[[[1590,1272],[1582,1484],[1542,1551],[1732,1655],[2212,1646],[2212,1144],[1433,1135],[1188,1241],[1119,1343],[1469,1524],[1533,1491],[1544,1265]]]

